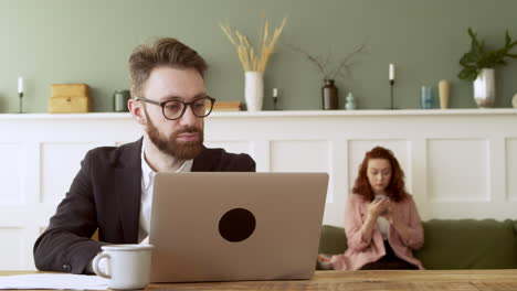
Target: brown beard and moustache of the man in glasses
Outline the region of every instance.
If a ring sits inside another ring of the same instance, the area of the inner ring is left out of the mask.
[[[176,159],[190,160],[201,153],[203,149],[203,130],[197,127],[186,127],[173,132],[167,138],[158,131],[149,116],[146,112],[147,126],[146,132],[150,141],[163,153],[167,153]],[[197,132],[199,140],[178,142],[178,136],[186,132]]]

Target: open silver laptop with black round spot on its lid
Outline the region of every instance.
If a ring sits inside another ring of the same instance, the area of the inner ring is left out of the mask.
[[[157,173],[151,282],[309,279],[327,173]]]

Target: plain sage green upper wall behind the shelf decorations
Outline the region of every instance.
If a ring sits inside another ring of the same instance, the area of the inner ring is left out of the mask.
[[[516,0],[0,0],[0,112],[17,112],[17,77],[25,78],[24,108],[45,112],[51,84],[86,83],[94,111],[112,111],[112,94],[128,87],[127,60],[152,36],[175,36],[210,64],[209,94],[244,100],[244,75],[218,23],[228,21],[250,37],[262,17],[275,25],[289,19],[265,73],[289,110],[321,107],[321,78],[291,51],[346,55],[365,40],[352,75],[338,79],[340,107],[348,90],[360,109],[389,106],[388,64],[397,66],[395,106],[419,108],[420,87],[452,82],[452,108],[474,108],[472,84],[460,80],[457,61],[468,50],[472,26],[488,45],[502,46],[504,31],[517,39]],[[499,67],[496,107],[510,107],[517,93],[517,61]]]

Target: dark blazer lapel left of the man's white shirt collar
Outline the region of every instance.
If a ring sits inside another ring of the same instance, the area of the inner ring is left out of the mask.
[[[123,146],[124,147],[124,146]],[[138,242],[141,200],[141,139],[129,143],[118,157],[114,172],[120,209],[120,223],[126,244]]]

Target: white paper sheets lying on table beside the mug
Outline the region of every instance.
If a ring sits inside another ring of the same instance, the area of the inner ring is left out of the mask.
[[[34,273],[0,276],[0,289],[72,289],[106,290],[108,279],[70,273]]]

